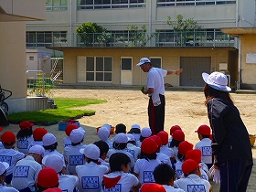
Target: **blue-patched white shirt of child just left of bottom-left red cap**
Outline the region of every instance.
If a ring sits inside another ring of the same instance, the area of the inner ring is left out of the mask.
[[[18,190],[29,187],[31,191],[34,191],[37,175],[41,169],[42,165],[38,164],[33,156],[27,155],[15,165],[11,181],[12,187]]]

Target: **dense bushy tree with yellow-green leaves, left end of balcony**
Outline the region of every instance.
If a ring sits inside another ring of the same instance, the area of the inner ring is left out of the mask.
[[[99,38],[101,39],[100,36],[102,33],[106,32],[106,28],[91,22],[83,23],[80,27],[77,27],[77,34],[80,37],[81,42],[88,47],[91,47],[93,43],[99,40]]]

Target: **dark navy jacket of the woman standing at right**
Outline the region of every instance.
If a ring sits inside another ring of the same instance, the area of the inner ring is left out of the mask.
[[[208,119],[212,129],[212,150],[219,164],[229,160],[252,161],[249,133],[239,110],[222,98],[208,101]]]

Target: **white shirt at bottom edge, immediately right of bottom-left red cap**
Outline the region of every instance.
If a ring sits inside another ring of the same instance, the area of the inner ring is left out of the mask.
[[[65,192],[73,192],[79,185],[78,176],[59,175],[59,188]]]

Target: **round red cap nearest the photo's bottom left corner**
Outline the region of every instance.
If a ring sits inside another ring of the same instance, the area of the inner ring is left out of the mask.
[[[47,166],[39,171],[37,184],[45,188],[56,187],[59,184],[59,176],[53,168]]]

